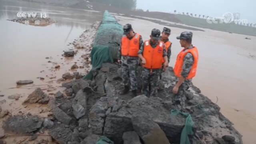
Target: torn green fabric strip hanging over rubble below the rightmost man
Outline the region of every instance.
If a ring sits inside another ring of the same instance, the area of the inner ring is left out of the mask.
[[[180,144],[190,144],[188,135],[194,134],[192,130],[192,126],[194,125],[194,122],[192,120],[192,117],[189,113],[180,112],[179,110],[172,110],[171,115],[176,116],[178,114],[181,114],[186,117],[185,126],[182,129],[181,136],[180,136]]]

